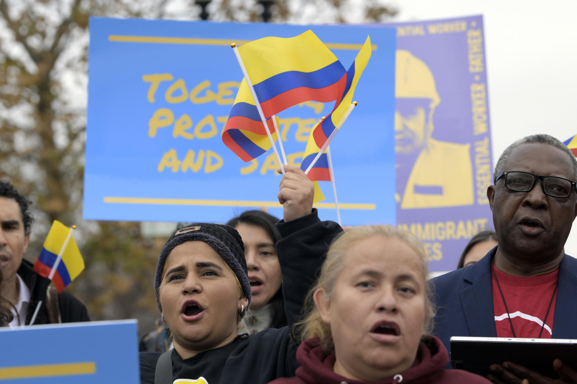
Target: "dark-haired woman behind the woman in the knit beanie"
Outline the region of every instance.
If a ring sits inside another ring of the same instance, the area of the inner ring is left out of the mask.
[[[275,224],[279,219],[263,211],[246,211],[231,219],[245,245],[252,302],[252,318],[248,321],[250,333],[287,325],[284,314],[282,274],[275,244],[280,240]]]

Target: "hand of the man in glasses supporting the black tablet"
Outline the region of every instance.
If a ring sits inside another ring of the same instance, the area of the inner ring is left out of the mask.
[[[493,374],[487,378],[495,384],[566,384],[577,383],[577,372],[571,369],[567,364],[563,364],[561,359],[553,360],[553,369],[559,375],[560,379],[551,379],[531,371],[519,364],[505,362],[492,364],[489,369]]]

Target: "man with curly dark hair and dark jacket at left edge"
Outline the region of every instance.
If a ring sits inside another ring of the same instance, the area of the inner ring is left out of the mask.
[[[0,180],[0,295],[14,306],[9,326],[28,325],[40,301],[34,324],[90,321],[83,303],[66,291],[58,294],[50,279],[23,260],[33,222],[30,204],[9,181]]]

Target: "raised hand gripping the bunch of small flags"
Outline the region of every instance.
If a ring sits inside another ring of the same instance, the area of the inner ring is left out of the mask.
[[[280,169],[276,172],[280,173]],[[314,184],[298,167],[285,165],[284,172],[278,197],[284,208],[283,219],[287,222],[313,211]]]

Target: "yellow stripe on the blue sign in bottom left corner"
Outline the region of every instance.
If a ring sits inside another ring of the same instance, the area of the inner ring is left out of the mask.
[[[47,364],[43,366],[20,366],[0,368],[0,380],[29,379],[69,375],[92,375],[96,373],[94,362]]]

